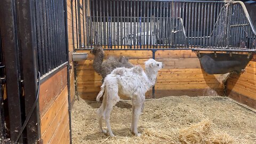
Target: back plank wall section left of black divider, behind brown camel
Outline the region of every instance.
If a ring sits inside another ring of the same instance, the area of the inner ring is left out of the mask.
[[[89,57],[85,61],[79,61],[77,63],[77,90],[78,94],[82,99],[95,100],[97,94],[100,91],[101,79],[102,77],[95,73],[92,63],[93,55],[90,54],[89,50],[77,50],[77,52],[87,52]],[[131,51],[131,50],[118,50],[118,51],[107,51],[105,50],[105,58],[109,55],[114,55],[119,57],[119,55],[124,55],[130,59],[130,62],[134,65],[144,65],[144,62],[149,58],[153,57],[151,50],[143,51]],[[146,97],[152,97],[151,91],[146,93]],[[122,97],[123,99],[127,99]]]

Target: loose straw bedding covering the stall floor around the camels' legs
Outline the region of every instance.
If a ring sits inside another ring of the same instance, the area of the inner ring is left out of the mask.
[[[110,124],[115,138],[98,130],[100,102],[75,101],[73,143],[256,143],[256,114],[227,97],[165,97],[145,102],[141,137],[131,134],[131,101],[118,102]],[[105,126],[106,128],[106,126]]]

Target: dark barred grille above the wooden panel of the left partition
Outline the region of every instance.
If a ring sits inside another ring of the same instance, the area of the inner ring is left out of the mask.
[[[63,1],[36,0],[38,68],[41,74],[67,61]]]

